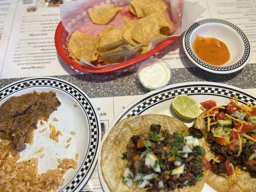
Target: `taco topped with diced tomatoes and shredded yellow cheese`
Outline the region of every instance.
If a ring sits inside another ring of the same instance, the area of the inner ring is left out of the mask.
[[[218,192],[256,191],[256,106],[232,98],[217,106],[201,103],[204,112],[195,121],[207,141],[206,183]]]

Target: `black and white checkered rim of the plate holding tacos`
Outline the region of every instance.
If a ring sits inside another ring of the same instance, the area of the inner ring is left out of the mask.
[[[244,93],[243,91],[239,91],[235,88],[228,88],[228,85],[212,85],[212,84],[191,84],[191,85],[182,85],[170,87],[165,90],[159,91],[152,95],[142,97],[140,101],[134,104],[132,107],[128,108],[122,116],[117,120],[120,121],[127,117],[132,117],[135,115],[140,115],[142,112],[147,109],[161,103],[163,101],[167,101],[173,99],[178,95],[205,95],[210,99],[210,96],[221,96],[221,97],[234,97],[237,96],[237,100],[244,104],[254,104],[256,105],[256,97],[250,96],[249,94]],[[239,89],[239,88],[238,88]],[[208,100],[209,100],[208,99]]]

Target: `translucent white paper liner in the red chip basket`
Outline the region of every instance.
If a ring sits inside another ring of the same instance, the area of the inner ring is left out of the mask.
[[[69,33],[69,36],[75,30],[82,30],[88,35],[97,36],[107,25],[97,25],[91,22],[88,11],[93,7],[100,4],[112,3],[117,6],[122,6],[127,9],[130,0],[76,0],[73,2],[61,4],[61,22]],[[152,39],[148,46],[148,50],[151,50],[158,46],[160,43],[172,36],[181,36],[185,30],[187,30],[195,20],[205,12],[205,8],[201,7],[197,3],[185,1],[185,0],[163,0],[168,5],[167,15],[170,21],[174,24],[176,31],[171,35],[163,38]],[[121,14],[117,14],[115,18],[109,23],[112,26],[118,27],[124,25]],[[138,57],[140,54],[130,54],[125,57],[126,60]],[[111,63],[106,65],[97,65],[88,62],[84,58],[81,58],[80,64],[89,65],[94,68],[104,68],[112,66],[117,63]]]

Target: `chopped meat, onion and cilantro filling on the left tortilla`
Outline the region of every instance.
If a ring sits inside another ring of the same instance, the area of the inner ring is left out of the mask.
[[[160,129],[159,124],[153,124],[148,136],[134,135],[127,144],[122,158],[129,164],[122,179],[128,187],[135,182],[147,192],[170,191],[193,186],[202,179],[205,150],[198,139],[168,130],[160,134]]]

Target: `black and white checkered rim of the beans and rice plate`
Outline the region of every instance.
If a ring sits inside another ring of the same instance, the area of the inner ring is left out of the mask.
[[[81,167],[78,169],[73,179],[70,180],[69,183],[67,183],[60,190],[61,192],[73,192],[78,188],[83,187],[80,185],[85,179],[85,182],[87,182],[97,163],[98,148],[101,135],[98,114],[91,101],[89,100],[89,97],[86,96],[82,90],[73,84],[56,78],[31,78],[10,84],[0,90],[0,101],[7,96],[11,96],[13,93],[31,87],[52,87],[61,90],[72,96],[77,101],[78,105],[81,105],[85,111],[86,118],[89,122],[89,146],[87,148],[86,155],[83,159]],[[83,183],[83,185],[84,184],[85,183]]]

